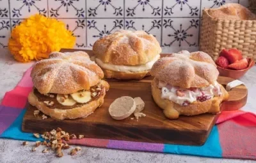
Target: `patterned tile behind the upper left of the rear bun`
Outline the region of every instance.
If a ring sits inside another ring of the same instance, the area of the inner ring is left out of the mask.
[[[123,18],[88,19],[87,45],[92,46],[97,39],[111,34],[118,29],[124,29]]]

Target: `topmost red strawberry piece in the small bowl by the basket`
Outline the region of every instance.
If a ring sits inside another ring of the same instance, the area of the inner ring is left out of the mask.
[[[243,59],[242,53],[239,50],[237,50],[236,48],[230,48],[230,50],[228,50],[228,51],[223,49],[220,52],[220,56],[223,56],[226,59],[228,59],[228,62],[230,62],[230,64],[233,64],[237,60]]]

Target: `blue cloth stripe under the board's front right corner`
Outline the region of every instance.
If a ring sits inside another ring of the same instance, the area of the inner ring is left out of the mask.
[[[203,146],[164,145],[164,153],[222,157],[218,128],[214,125],[209,138]]]

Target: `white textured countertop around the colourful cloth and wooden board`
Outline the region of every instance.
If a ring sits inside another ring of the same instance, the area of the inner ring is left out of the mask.
[[[0,48],[0,102],[3,100],[4,93],[12,90],[22,78],[23,73],[33,62],[23,64],[16,62],[7,49]],[[249,89],[248,104],[246,107],[252,109],[253,98],[256,91],[253,85],[256,85],[256,67],[253,67],[242,79]],[[254,95],[253,95],[254,92]],[[254,102],[255,103],[255,102]],[[250,107],[252,106],[252,107]],[[253,160],[235,160],[235,159],[214,159],[207,157],[194,157],[188,155],[172,155],[166,153],[150,152],[132,152],[125,150],[111,150],[106,148],[93,148],[81,146],[82,151],[77,155],[70,156],[64,153],[64,156],[58,158],[53,152],[42,153],[30,152],[31,145],[26,147],[21,145],[22,141],[12,139],[0,139],[0,163],[2,162],[255,162]],[[30,143],[32,144],[32,143]]]

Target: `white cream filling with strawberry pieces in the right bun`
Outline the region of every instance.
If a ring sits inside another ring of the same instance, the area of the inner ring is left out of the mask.
[[[220,85],[217,81],[208,87],[183,89],[172,86],[164,81],[159,81],[158,87],[161,89],[161,98],[168,99],[182,106],[187,106],[195,101],[207,101],[214,96],[221,96]]]

